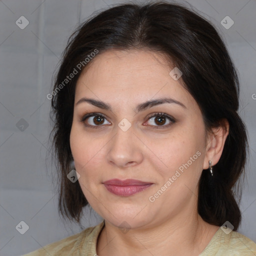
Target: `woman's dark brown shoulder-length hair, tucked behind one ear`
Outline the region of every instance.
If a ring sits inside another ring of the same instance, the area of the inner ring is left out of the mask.
[[[108,49],[141,49],[163,54],[182,71],[181,81],[199,105],[206,130],[218,126],[223,118],[228,120],[229,134],[222,155],[213,166],[214,175],[202,171],[199,180],[198,213],[218,226],[228,220],[236,230],[241,213],[233,187],[244,170],[247,151],[246,129],[237,113],[237,73],[214,26],[195,11],[165,1],[113,6],[94,14],[68,39],[51,99],[54,127],[50,137],[59,172],[62,216],[79,222],[82,208],[88,203],[79,183],[70,182],[66,175],[72,161],[69,135],[75,85],[86,68],[85,58],[95,49],[98,54]],[[83,63],[81,70],[78,63]],[[74,68],[77,74],[63,83]]]

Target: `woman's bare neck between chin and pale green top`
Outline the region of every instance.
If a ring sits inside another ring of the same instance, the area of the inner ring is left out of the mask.
[[[205,222],[198,213],[166,219],[154,226],[120,228],[105,220],[98,242],[97,254],[105,255],[199,255],[219,227]]]

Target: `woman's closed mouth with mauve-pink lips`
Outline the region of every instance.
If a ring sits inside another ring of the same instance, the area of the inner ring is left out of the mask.
[[[153,184],[137,179],[109,179],[102,183],[109,192],[119,196],[129,196],[141,192]]]

